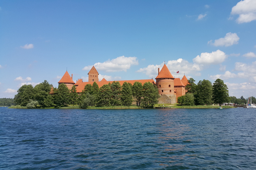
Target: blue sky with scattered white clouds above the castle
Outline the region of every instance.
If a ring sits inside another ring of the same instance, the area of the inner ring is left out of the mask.
[[[1,0],[0,98],[24,84],[54,87],[66,70],[88,81],[222,79],[256,96],[256,0]],[[179,71],[179,73],[177,73]]]

